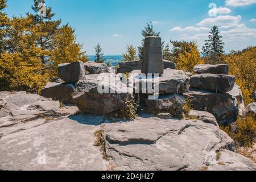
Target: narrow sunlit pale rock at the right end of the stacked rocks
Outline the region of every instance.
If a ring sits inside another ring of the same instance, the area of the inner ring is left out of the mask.
[[[230,96],[236,98],[236,103],[238,104],[238,108],[239,108],[238,115],[240,117],[245,116],[246,107],[245,107],[245,102],[243,101],[243,94],[242,94],[242,90],[240,89],[240,87],[235,83],[234,88],[232,90],[230,90],[228,92],[228,94],[230,94]]]

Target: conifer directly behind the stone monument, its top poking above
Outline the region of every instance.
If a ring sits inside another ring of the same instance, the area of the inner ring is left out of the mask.
[[[150,21],[149,23],[147,23],[147,26],[144,27],[141,34],[144,38],[146,38],[147,36],[159,36],[160,32],[156,32],[154,30],[154,26],[153,26],[152,22]],[[142,46],[138,47],[139,59],[143,58],[143,47],[144,47],[144,39],[142,40]]]

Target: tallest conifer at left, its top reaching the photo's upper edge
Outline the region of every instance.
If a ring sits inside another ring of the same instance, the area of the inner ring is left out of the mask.
[[[61,20],[52,20],[55,14],[52,13],[51,7],[43,7],[44,3],[44,0],[34,0],[32,10],[34,10],[35,14],[27,13],[27,15],[33,20],[34,28],[32,34],[36,36],[36,46],[41,49],[40,59],[42,63],[47,64],[51,61],[49,56],[51,56],[52,51],[56,47],[54,37]],[[42,10],[45,10],[45,12]]]

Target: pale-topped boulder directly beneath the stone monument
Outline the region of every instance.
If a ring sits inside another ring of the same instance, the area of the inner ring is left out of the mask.
[[[151,89],[144,88],[145,85],[152,85],[152,89],[156,89],[155,86],[159,86],[159,94],[161,95],[188,92],[189,77],[184,71],[164,69],[163,76],[152,78],[141,75],[140,71],[134,71],[132,75],[134,76],[135,92],[152,94]]]

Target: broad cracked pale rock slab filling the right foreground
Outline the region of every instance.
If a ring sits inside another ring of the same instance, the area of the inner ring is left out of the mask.
[[[141,118],[113,123],[105,126],[105,138],[106,155],[117,170],[202,170],[205,165],[220,166],[216,151],[233,148],[232,139],[218,126],[197,120]],[[227,168],[233,163],[236,169],[255,170],[245,157],[235,162],[224,159]]]

